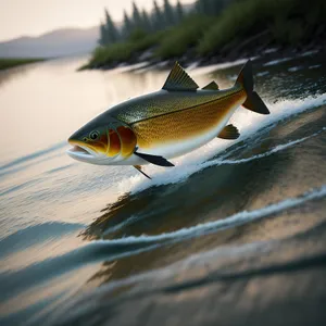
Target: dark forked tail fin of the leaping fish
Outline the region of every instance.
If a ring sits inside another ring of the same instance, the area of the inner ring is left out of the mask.
[[[250,60],[243,65],[236,84],[240,84],[247,92],[247,99],[242,106],[260,114],[269,114],[269,110],[263,100],[253,90],[252,64]]]

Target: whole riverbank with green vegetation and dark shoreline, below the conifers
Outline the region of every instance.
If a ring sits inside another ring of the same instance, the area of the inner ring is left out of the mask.
[[[265,54],[280,59],[325,51],[325,15],[326,5],[321,0],[233,1],[217,16],[192,13],[166,30],[98,47],[80,70],[106,70],[143,61],[206,65]]]

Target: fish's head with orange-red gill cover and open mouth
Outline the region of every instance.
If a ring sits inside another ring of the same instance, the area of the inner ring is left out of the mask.
[[[128,158],[136,147],[130,127],[104,113],[68,138],[67,154],[82,162],[110,165]]]

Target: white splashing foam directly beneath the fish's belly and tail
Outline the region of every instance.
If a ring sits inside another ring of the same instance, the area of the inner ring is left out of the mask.
[[[227,147],[235,145],[238,141],[244,140],[248,137],[252,137],[254,133],[256,133],[264,126],[277,123],[288,116],[304,112],[306,110],[311,110],[313,108],[321,106],[325,103],[326,93],[323,93],[317,97],[308,97],[304,100],[284,100],[273,104],[267,103],[267,106],[271,110],[269,115],[253,114],[248,110],[239,109],[230,118],[230,123],[236,125],[241,134],[240,138],[237,141],[229,142],[227,140],[214,139],[208,145],[187,155],[172,160],[176,165],[172,168],[148,165],[146,166],[145,172],[152,177],[151,180],[146,179],[141,174],[137,173],[137,175],[123,179],[118,184],[118,190],[121,192],[130,191],[133,193],[136,193],[152,186],[179,183],[188,178],[191,174],[203,170],[208,166],[212,166],[213,164],[227,164],[227,161],[223,161],[223,159],[210,162],[206,161],[216,155],[216,153],[225,150]],[[316,135],[317,134],[314,134],[309,137],[304,137],[298,140],[290,141],[288,143],[277,146],[268,152],[260,155],[271,155],[276,151],[285,150]],[[260,158],[261,156],[256,155],[252,159],[243,159],[244,161],[242,161],[242,163],[248,162],[248,160],[256,160]],[[236,162],[241,163],[239,160]],[[233,163],[228,161],[228,164]]]

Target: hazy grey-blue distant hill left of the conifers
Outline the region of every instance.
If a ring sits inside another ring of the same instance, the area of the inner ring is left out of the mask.
[[[89,53],[97,45],[99,27],[62,28],[38,37],[0,42],[0,58],[53,58]]]

